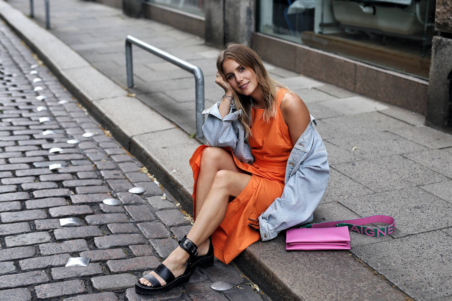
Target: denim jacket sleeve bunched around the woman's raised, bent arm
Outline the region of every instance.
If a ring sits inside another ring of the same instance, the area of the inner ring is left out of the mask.
[[[207,144],[216,147],[231,148],[234,156],[240,162],[251,164],[254,157],[251,154],[251,147],[245,139],[245,129],[238,120],[242,110],[237,111],[234,105],[230,106],[229,114],[221,118],[217,102],[212,107],[202,111],[207,114],[206,121],[202,125],[202,132]]]

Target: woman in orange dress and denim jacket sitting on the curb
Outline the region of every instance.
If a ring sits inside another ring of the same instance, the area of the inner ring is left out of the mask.
[[[203,112],[210,146],[190,158],[195,222],[163,264],[137,281],[137,293],[167,292],[214,255],[228,264],[259,238],[311,222],[325,192],[325,146],[301,98],[271,79],[249,47],[227,44],[217,69],[225,95]]]

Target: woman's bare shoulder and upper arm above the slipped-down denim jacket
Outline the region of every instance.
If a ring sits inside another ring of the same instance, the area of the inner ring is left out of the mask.
[[[309,110],[297,94],[290,92],[282,97],[280,109],[282,118],[289,128],[292,145],[295,145],[311,122]]]

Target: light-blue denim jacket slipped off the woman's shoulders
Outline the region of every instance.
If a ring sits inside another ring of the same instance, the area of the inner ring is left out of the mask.
[[[244,139],[245,130],[237,120],[241,110],[221,118],[218,106],[213,105],[202,114],[208,114],[202,131],[210,146],[230,147],[241,162],[251,164],[254,159],[250,144]],[[325,145],[315,130],[317,122],[311,115],[311,122],[297,140],[287,159],[284,190],[279,198],[259,216],[260,236],[263,241],[275,238],[278,233],[290,227],[311,222],[312,213],[325,193],[330,167]]]

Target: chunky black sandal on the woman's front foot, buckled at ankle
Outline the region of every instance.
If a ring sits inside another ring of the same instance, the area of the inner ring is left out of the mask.
[[[143,276],[143,278],[146,278],[146,280],[151,282],[151,286],[148,287],[147,285],[143,285],[138,280],[135,283],[135,292],[142,295],[158,295],[170,291],[176,285],[182,286],[190,282],[190,274],[192,272],[190,263],[193,259],[197,258],[198,247],[193,243],[193,241],[190,241],[185,236],[179,241],[179,246],[187,251],[188,254],[190,254],[185,272],[179,277],[175,278],[170,269],[165,267],[165,265],[160,264],[154,270],[154,272],[157,273],[157,275],[159,275],[163,280],[165,280],[166,284],[164,286],[160,285],[160,282],[157,280],[157,278],[155,278],[151,274],[147,274],[146,276]]]

